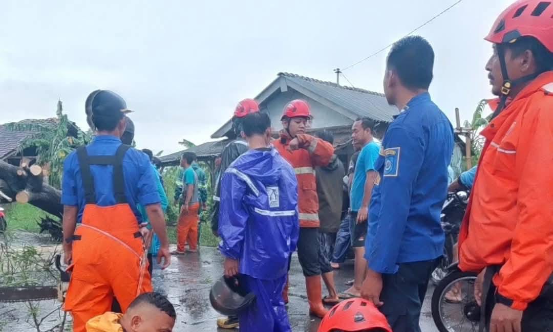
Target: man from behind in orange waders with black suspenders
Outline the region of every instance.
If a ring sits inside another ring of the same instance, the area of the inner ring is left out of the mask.
[[[143,240],[150,235],[137,203],[161,241],[161,267],[171,258],[153,168],[142,151],[119,139],[127,126],[126,103],[114,92],[96,90],[86,109],[97,135],[65,159],[61,194],[65,263],[73,263],[64,309],[75,332],[109,311],[114,296],[124,313],[138,294],[152,291]]]

